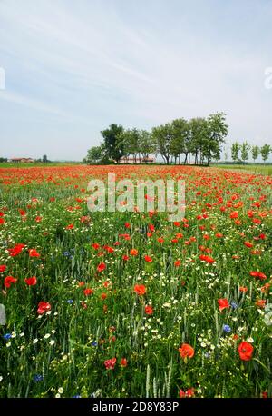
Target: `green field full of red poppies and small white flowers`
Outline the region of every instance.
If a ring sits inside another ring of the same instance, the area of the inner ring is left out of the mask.
[[[89,212],[109,172],[184,178],[185,218]],[[269,177],[60,165],[0,183],[0,397],[272,396]]]

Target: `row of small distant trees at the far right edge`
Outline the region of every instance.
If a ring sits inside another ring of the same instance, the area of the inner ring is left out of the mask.
[[[231,158],[233,162],[246,163],[249,159],[250,152],[254,163],[256,162],[259,155],[265,163],[269,157],[269,154],[272,152],[272,147],[269,144],[264,144],[261,147],[257,145],[251,146],[248,144],[248,142],[244,142],[242,144],[235,142],[231,145]]]

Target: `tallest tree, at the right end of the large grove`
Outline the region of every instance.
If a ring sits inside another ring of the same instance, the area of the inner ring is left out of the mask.
[[[225,143],[228,134],[228,124],[224,113],[210,114],[207,120],[207,134],[203,140],[202,154],[207,158],[207,164],[211,158],[220,154],[221,144]]]

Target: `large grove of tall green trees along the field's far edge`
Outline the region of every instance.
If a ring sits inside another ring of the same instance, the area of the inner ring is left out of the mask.
[[[224,113],[210,114],[190,120],[179,118],[153,127],[151,132],[125,129],[111,124],[102,130],[102,144],[89,149],[83,163],[120,163],[131,156],[145,163],[150,154],[160,155],[164,163],[207,164],[220,159],[221,146],[228,134]]]

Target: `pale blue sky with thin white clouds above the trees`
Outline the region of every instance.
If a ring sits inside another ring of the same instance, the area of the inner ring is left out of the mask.
[[[0,155],[81,160],[108,124],[217,111],[228,144],[271,143],[271,22],[268,0],[0,0]]]

